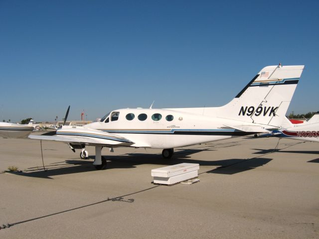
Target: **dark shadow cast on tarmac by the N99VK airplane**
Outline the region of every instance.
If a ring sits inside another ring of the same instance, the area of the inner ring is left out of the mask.
[[[172,158],[163,159],[160,154],[143,154],[143,153],[128,153],[123,155],[111,156],[107,155],[107,168],[136,168],[141,164],[155,164],[155,165],[173,165],[178,163],[199,163],[200,166],[218,166],[208,173],[218,174],[235,174],[247,170],[254,169],[268,163],[269,158],[253,158],[253,159],[222,159],[222,160],[195,160],[191,159],[189,155],[198,153],[201,151],[213,151],[212,149],[182,149],[175,152]],[[52,176],[65,175],[72,173],[90,172],[96,171],[92,165],[94,156],[91,156],[88,160],[68,159],[62,162],[51,163],[45,165],[48,168],[47,171],[35,170],[26,172],[10,172],[12,174],[53,179]],[[37,169],[38,167],[29,168],[30,170]]]

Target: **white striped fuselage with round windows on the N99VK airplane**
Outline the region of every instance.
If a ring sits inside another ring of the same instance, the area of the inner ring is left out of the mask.
[[[133,147],[174,148],[255,133],[225,126],[234,121],[175,109],[121,109],[84,127],[125,137]]]

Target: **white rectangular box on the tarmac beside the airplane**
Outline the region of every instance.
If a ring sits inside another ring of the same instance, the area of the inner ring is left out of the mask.
[[[198,176],[198,163],[180,163],[167,167],[152,169],[154,183],[174,184]]]

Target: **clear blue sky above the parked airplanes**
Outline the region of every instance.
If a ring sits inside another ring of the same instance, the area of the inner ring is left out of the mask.
[[[0,0],[0,120],[221,106],[267,65],[306,65],[288,113],[319,111],[319,1]]]

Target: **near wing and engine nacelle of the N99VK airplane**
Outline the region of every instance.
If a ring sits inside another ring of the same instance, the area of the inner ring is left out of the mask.
[[[134,144],[131,140],[114,133],[79,126],[63,127],[57,130],[55,135],[29,135],[29,138],[91,146],[131,146]]]

